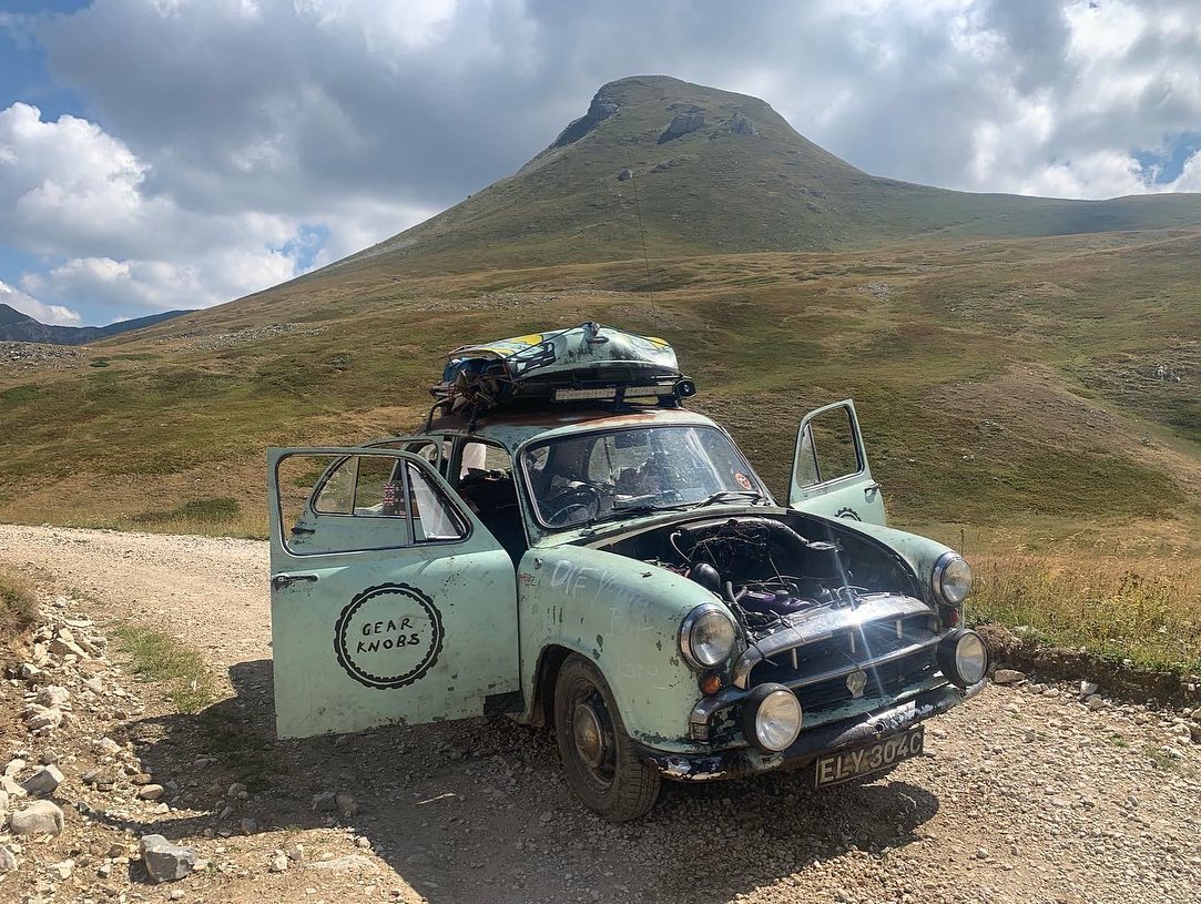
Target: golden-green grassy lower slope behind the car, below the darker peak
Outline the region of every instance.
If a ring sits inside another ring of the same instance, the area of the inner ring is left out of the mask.
[[[0,375],[0,519],[262,532],[265,445],[411,430],[444,349],[599,318],[670,339],[695,407],[777,490],[803,411],[853,395],[901,523],[1196,523],[1199,251],[1130,234],[677,258],[652,262],[653,292],[641,262],[366,269]],[[1154,378],[1164,361],[1179,382]]]

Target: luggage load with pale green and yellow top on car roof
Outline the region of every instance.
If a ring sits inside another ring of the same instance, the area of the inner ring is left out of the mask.
[[[662,339],[587,322],[461,346],[447,355],[435,408],[472,419],[508,401],[677,403],[695,393]]]

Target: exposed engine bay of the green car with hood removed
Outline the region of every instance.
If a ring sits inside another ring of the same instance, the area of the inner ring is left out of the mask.
[[[771,633],[789,616],[855,606],[870,594],[922,598],[890,550],[805,516],[707,519],[652,529],[608,549],[695,581],[751,636]]]

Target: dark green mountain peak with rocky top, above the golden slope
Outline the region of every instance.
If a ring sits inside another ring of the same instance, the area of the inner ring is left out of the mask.
[[[868,175],[767,103],[662,76],[604,85],[514,175],[330,271],[462,273],[898,240],[1201,224],[1201,194],[1062,200]]]

